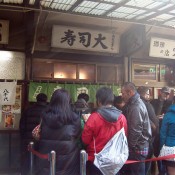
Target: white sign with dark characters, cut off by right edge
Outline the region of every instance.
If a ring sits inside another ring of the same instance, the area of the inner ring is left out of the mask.
[[[152,37],[149,56],[175,59],[175,40]]]

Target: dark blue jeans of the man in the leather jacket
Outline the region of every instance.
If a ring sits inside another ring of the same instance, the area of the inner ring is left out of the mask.
[[[129,153],[129,160],[145,160],[147,155],[137,154],[135,152]],[[138,162],[125,165],[126,175],[145,175],[145,162]]]

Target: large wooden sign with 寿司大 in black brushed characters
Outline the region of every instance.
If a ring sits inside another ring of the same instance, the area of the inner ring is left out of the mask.
[[[85,28],[53,26],[51,46],[108,53],[119,53],[119,35]]]

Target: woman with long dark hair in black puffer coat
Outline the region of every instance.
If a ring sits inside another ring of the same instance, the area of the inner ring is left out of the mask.
[[[80,174],[80,149],[78,139],[81,134],[80,117],[70,107],[70,97],[66,90],[56,90],[41,124],[39,152],[56,152],[56,175]],[[39,159],[39,175],[49,174],[48,160]]]

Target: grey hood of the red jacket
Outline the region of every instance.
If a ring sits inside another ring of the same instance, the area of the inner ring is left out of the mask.
[[[108,122],[116,122],[121,115],[122,111],[118,110],[116,107],[100,107],[97,112]]]

